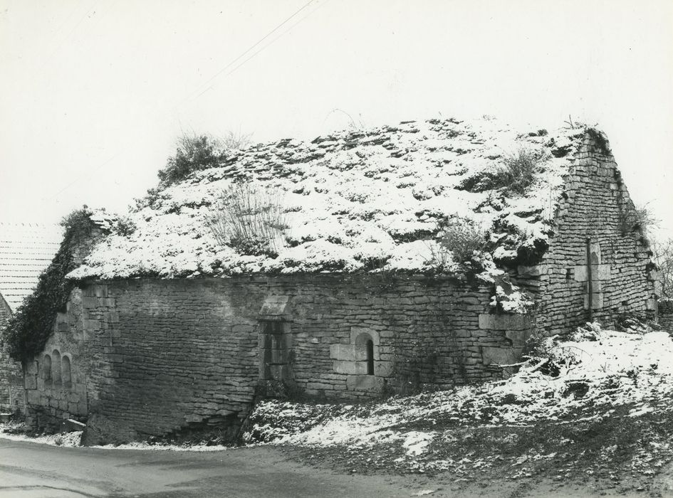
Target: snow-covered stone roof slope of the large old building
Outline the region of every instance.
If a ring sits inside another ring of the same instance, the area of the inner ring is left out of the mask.
[[[522,133],[497,120],[451,118],[229,151],[219,167],[196,171],[140,201],[128,215],[135,231],[113,231],[70,276],[350,272],[367,270],[372,261],[424,270],[437,248],[437,223],[447,221],[481,228],[498,246],[491,255],[506,258],[517,244],[546,237],[583,133]],[[521,150],[548,158],[524,195],[474,187]],[[218,243],[207,226],[222,192],[241,180],[281,198],[288,243],[277,257],[241,254]]]

